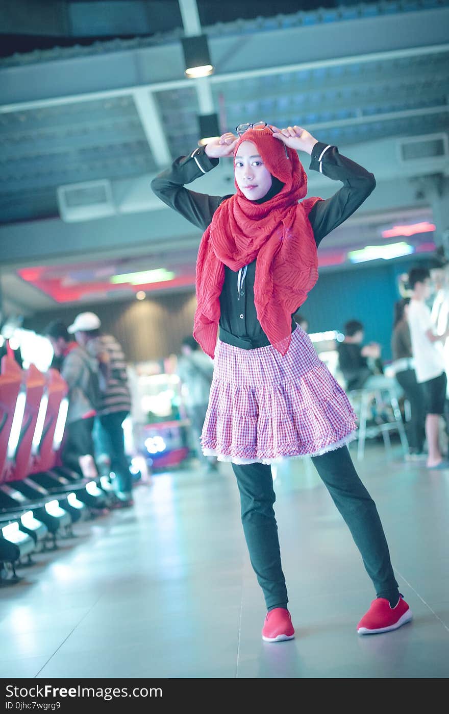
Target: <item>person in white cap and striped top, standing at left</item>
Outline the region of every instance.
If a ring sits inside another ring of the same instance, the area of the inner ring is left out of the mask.
[[[121,506],[133,506],[133,477],[125,453],[123,421],[131,411],[126,360],[115,337],[100,330],[98,315],[79,313],[68,331],[98,364],[101,399],[96,410],[95,436],[100,468],[114,474],[113,486]]]

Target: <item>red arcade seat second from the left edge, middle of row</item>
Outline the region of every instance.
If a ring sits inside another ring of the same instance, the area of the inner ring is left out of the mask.
[[[24,372],[26,386],[26,401],[24,418],[22,419],[19,441],[14,453],[14,463],[12,468],[6,473],[6,481],[21,481],[29,474],[31,466],[31,446],[33,442],[34,430],[41,406],[41,398],[44,393],[45,375],[39,372],[34,364]]]

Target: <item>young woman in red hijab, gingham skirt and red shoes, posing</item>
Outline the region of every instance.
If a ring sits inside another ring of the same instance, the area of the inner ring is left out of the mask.
[[[375,503],[346,444],[355,414],[292,315],[318,278],[317,246],[369,196],[369,174],[300,126],[241,124],[173,162],[151,183],[156,195],[205,232],[196,265],[193,336],[214,358],[203,453],[231,461],[251,564],[268,613],[262,636],[293,638],[281,568],[270,464],[311,456],[360,550],[377,597],[358,633],[394,630],[411,619],[398,592]],[[310,169],[340,180],[326,201],[304,199]],[[208,196],[184,184],[234,157],[236,194]],[[217,341],[218,333],[218,341]]]

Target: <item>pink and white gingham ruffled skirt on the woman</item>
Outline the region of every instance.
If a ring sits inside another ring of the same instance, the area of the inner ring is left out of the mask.
[[[285,356],[271,345],[218,341],[201,434],[206,456],[233,463],[318,456],[352,441],[356,428],[348,397],[301,327]]]

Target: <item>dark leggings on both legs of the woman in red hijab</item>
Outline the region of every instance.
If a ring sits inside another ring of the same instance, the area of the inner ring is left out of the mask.
[[[312,458],[333,502],[343,516],[378,597],[398,599],[398,583],[373,499],[358,477],[348,448]],[[286,607],[286,580],[281,567],[278,527],[273,509],[271,467],[262,463],[232,464],[241,496],[243,532],[251,565],[268,610]]]

